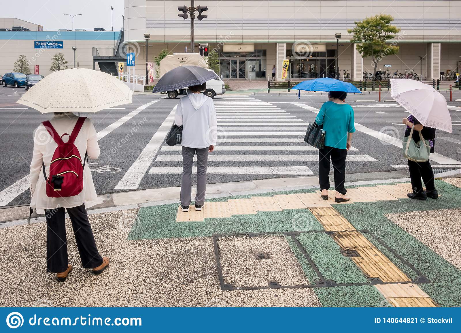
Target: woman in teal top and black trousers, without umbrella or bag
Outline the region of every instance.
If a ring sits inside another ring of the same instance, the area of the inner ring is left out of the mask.
[[[354,127],[354,110],[345,103],[347,93],[342,91],[330,91],[330,101],[323,103],[315,123],[323,125],[325,131],[325,147],[319,149],[319,184],[321,196],[328,200],[330,188],[330,159],[335,174],[335,202],[349,201],[344,188],[346,172],[347,151],[351,147]]]

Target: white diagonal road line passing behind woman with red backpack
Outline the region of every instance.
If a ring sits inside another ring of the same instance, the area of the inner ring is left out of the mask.
[[[107,126],[105,129],[102,131],[99,131],[96,133],[96,137],[98,138],[98,141],[105,137],[107,134],[112,132],[113,130],[117,129],[121,125],[123,125],[125,122],[133,118],[136,114],[140,113],[142,110],[144,110],[146,107],[149,107],[150,105],[160,101],[161,99],[157,99],[155,101],[150,101],[149,103],[146,103],[140,107],[138,107],[136,110],[128,113],[126,116],[118,119],[115,121],[113,124]],[[122,122],[123,119],[123,122]],[[6,189],[2,190],[0,192],[0,206],[6,206],[8,203],[12,202],[17,196],[19,196],[21,193],[23,193],[25,190],[29,189],[30,186],[30,174],[27,176],[19,179],[16,181],[14,184],[11,184],[8,186]]]

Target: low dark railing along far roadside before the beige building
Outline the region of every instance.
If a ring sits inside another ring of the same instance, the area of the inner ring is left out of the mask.
[[[287,92],[296,86],[301,81],[267,81],[267,92],[270,93],[271,89],[287,89]],[[346,81],[352,83],[360,91],[390,91],[390,80],[373,81],[373,80],[360,80],[360,81]],[[437,90],[461,90],[461,81],[441,81],[425,80],[423,83],[429,84],[432,88]]]

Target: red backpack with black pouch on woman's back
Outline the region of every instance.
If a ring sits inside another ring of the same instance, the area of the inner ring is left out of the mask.
[[[86,117],[79,117],[72,134],[69,136],[69,134],[64,133],[61,137],[59,137],[58,132],[49,121],[42,122],[53,140],[58,144],[51,159],[50,176],[48,178],[45,172],[45,164],[43,164],[43,175],[47,182],[47,196],[49,197],[65,198],[76,196],[83,190],[83,167],[85,166],[85,161],[82,161],[74,141],[85,119]],[[62,137],[65,135],[69,136],[69,141],[66,143],[62,141]]]

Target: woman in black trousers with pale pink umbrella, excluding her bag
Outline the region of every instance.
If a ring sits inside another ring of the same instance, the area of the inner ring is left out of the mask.
[[[390,80],[391,96],[404,107],[409,113],[403,118],[402,123],[407,125],[405,137],[412,136],[416,144],[421,136],[429,141],[430,152],[434,152],[435,130],[451,130],[451,117],[445,97],[432,86],[416,80],[394,79]],[[427,197],[438,198],[434,184],[434,172],[429,160],[415,162],[408,160],[413,193],[408,193],[411,199],[427,200]],[[421,178],[426,185],[423,190]]]

